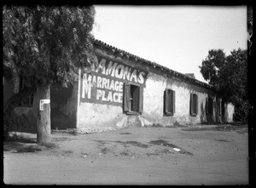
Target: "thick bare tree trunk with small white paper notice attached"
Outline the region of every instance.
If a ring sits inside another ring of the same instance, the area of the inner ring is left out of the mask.
[[[38,144],[45,144],[50,142],[50,103],[46,102],[47,100],[50,99],[49,86],[50,86],[49,83],[37,85],[37,98],[38,98],[37,142]],[[40,100],[41,100],[41,104],[40,104]],[[42,104],[42,100],[44,100],[43,104]]]

